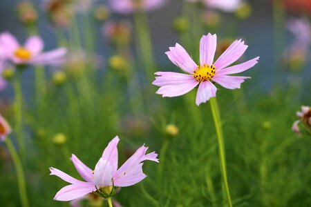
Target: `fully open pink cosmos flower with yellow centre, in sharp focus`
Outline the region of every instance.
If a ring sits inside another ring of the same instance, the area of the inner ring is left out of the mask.
[[[203,35],[200,40],[200,64],[197,65],[187,51],[178,43],[175,47],[169,48],[167,56],[176,66],[181,68],[186,74],[178,72],[156,72],[158,75],[153,85],[160,86],[157,94],[162,97],[178,97],[184,95],[198,86],[196,104],[208,101],[211,97],[216,97],[217,88],[214,82],[228,89],[241,87],[241,83],[249,77],[230,76],[238,72],[243,72],[252,68],[258,63],[259,57],[230,66],[237,61],[247,49],[244,41],[234,41],[223,55],[213,63],[216,52],[216,34]],[[228,67],[229,66],[229,67]]]

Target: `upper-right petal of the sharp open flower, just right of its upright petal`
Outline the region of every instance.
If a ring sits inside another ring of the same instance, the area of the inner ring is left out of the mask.
[[[216,70],[221,70],[237,61],[244,54],[247,47],[241,39],[234,41],[214,63]]]

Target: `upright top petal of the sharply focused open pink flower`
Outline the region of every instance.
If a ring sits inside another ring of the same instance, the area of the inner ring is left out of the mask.
[[[201,66],[207,64],[211,66],[214,61],[214,55],[216,52],[217,35],[203,35],[200,40],[200,64]]]

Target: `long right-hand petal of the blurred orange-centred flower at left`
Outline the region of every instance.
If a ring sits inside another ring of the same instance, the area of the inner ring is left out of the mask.
[[[32,58],[29,62],[37,65],[58,63],[66,55],[66,48],[58,48],[50,52],[44,52],[37,57]]]

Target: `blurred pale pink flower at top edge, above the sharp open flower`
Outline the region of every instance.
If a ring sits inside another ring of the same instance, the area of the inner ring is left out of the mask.
[[[189,2],[200,2],[205,3],[207,8],[215,8],[218,10],[223,10],[224,12],[234,12],[237,10],[242,0],[187,0]]]

